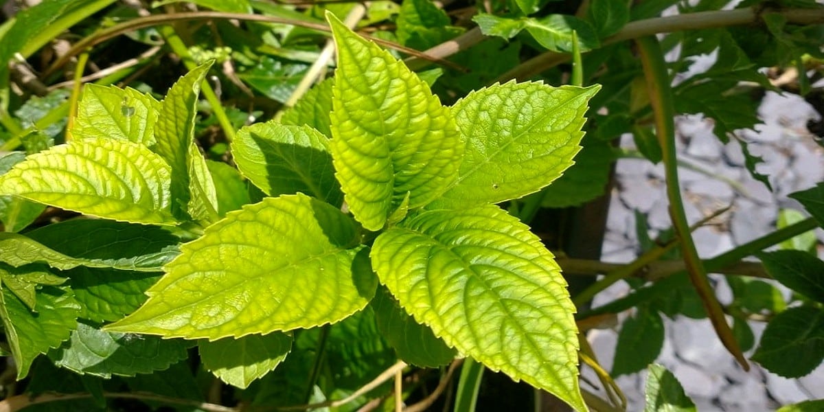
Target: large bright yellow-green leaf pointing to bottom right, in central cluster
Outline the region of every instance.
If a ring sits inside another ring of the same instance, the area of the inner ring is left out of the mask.
[[[553,255],[517,218],[494,205],[419,213],[377,236],[372,266],[449,346],[586,410],[575,307]]]

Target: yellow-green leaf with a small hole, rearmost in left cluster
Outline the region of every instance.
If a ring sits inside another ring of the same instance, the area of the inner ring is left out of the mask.
[[[160,102],[133,88],[87,84],[77,104],[73,138],[116,138],[151,147]]]

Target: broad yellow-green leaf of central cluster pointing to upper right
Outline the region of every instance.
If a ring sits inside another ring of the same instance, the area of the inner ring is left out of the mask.
[[[430,208],[499,203],[549,185],[573,164],[598,88],[508,82],[458,101],[452,113],[466,153],[456,185]]]

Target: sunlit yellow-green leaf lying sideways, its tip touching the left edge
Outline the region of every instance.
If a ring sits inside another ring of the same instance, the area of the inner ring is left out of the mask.
[[[138,143],[88,138],[26,158],[0,192],[99,218],[171,225],[171,170]]]

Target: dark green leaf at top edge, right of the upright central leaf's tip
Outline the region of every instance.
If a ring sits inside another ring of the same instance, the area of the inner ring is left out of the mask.
[[[404,0],[395,22],[400,44],[419,50],[441,44],[463,31],[450,26],[447,13],[432,0]]]

